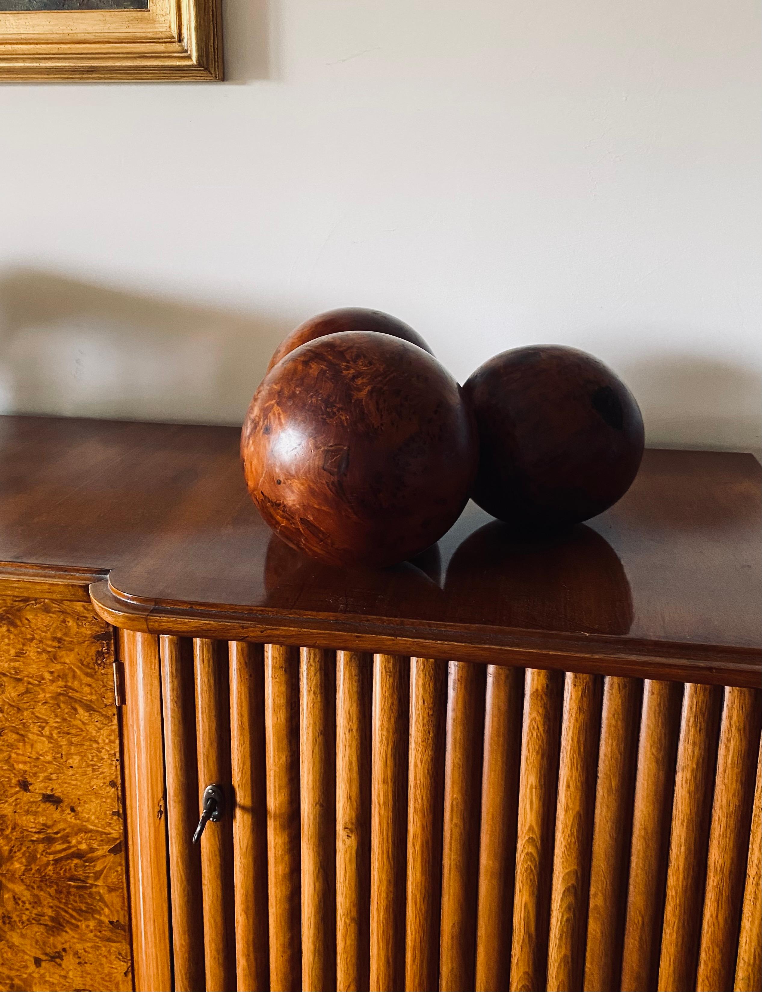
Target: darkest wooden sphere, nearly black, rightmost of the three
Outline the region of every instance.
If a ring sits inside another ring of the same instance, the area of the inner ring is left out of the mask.
[[[560,345],[514,348],[463,386],[479,433],[472,497],[519,528],[559,528],[602,513],[643,455],[632,393],[597,358]]]

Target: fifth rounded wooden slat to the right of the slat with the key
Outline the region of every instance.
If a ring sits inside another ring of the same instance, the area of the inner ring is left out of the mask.
[[[410,661],[373,658],[370,988],[405,987]]]

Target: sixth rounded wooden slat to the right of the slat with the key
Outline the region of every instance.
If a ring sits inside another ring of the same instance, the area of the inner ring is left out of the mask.
[[[410,660],[405,988],[440,985],[447,664]]]

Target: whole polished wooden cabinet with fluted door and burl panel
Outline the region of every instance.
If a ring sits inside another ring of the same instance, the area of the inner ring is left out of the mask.
[[[354,572],[236,434],[0,418],[0,987],[759,989],[758,463]]]

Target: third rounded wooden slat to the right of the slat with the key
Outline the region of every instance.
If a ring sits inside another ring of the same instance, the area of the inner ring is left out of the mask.
[[[302,648],[302,987],[336,984],[335,655]]]

